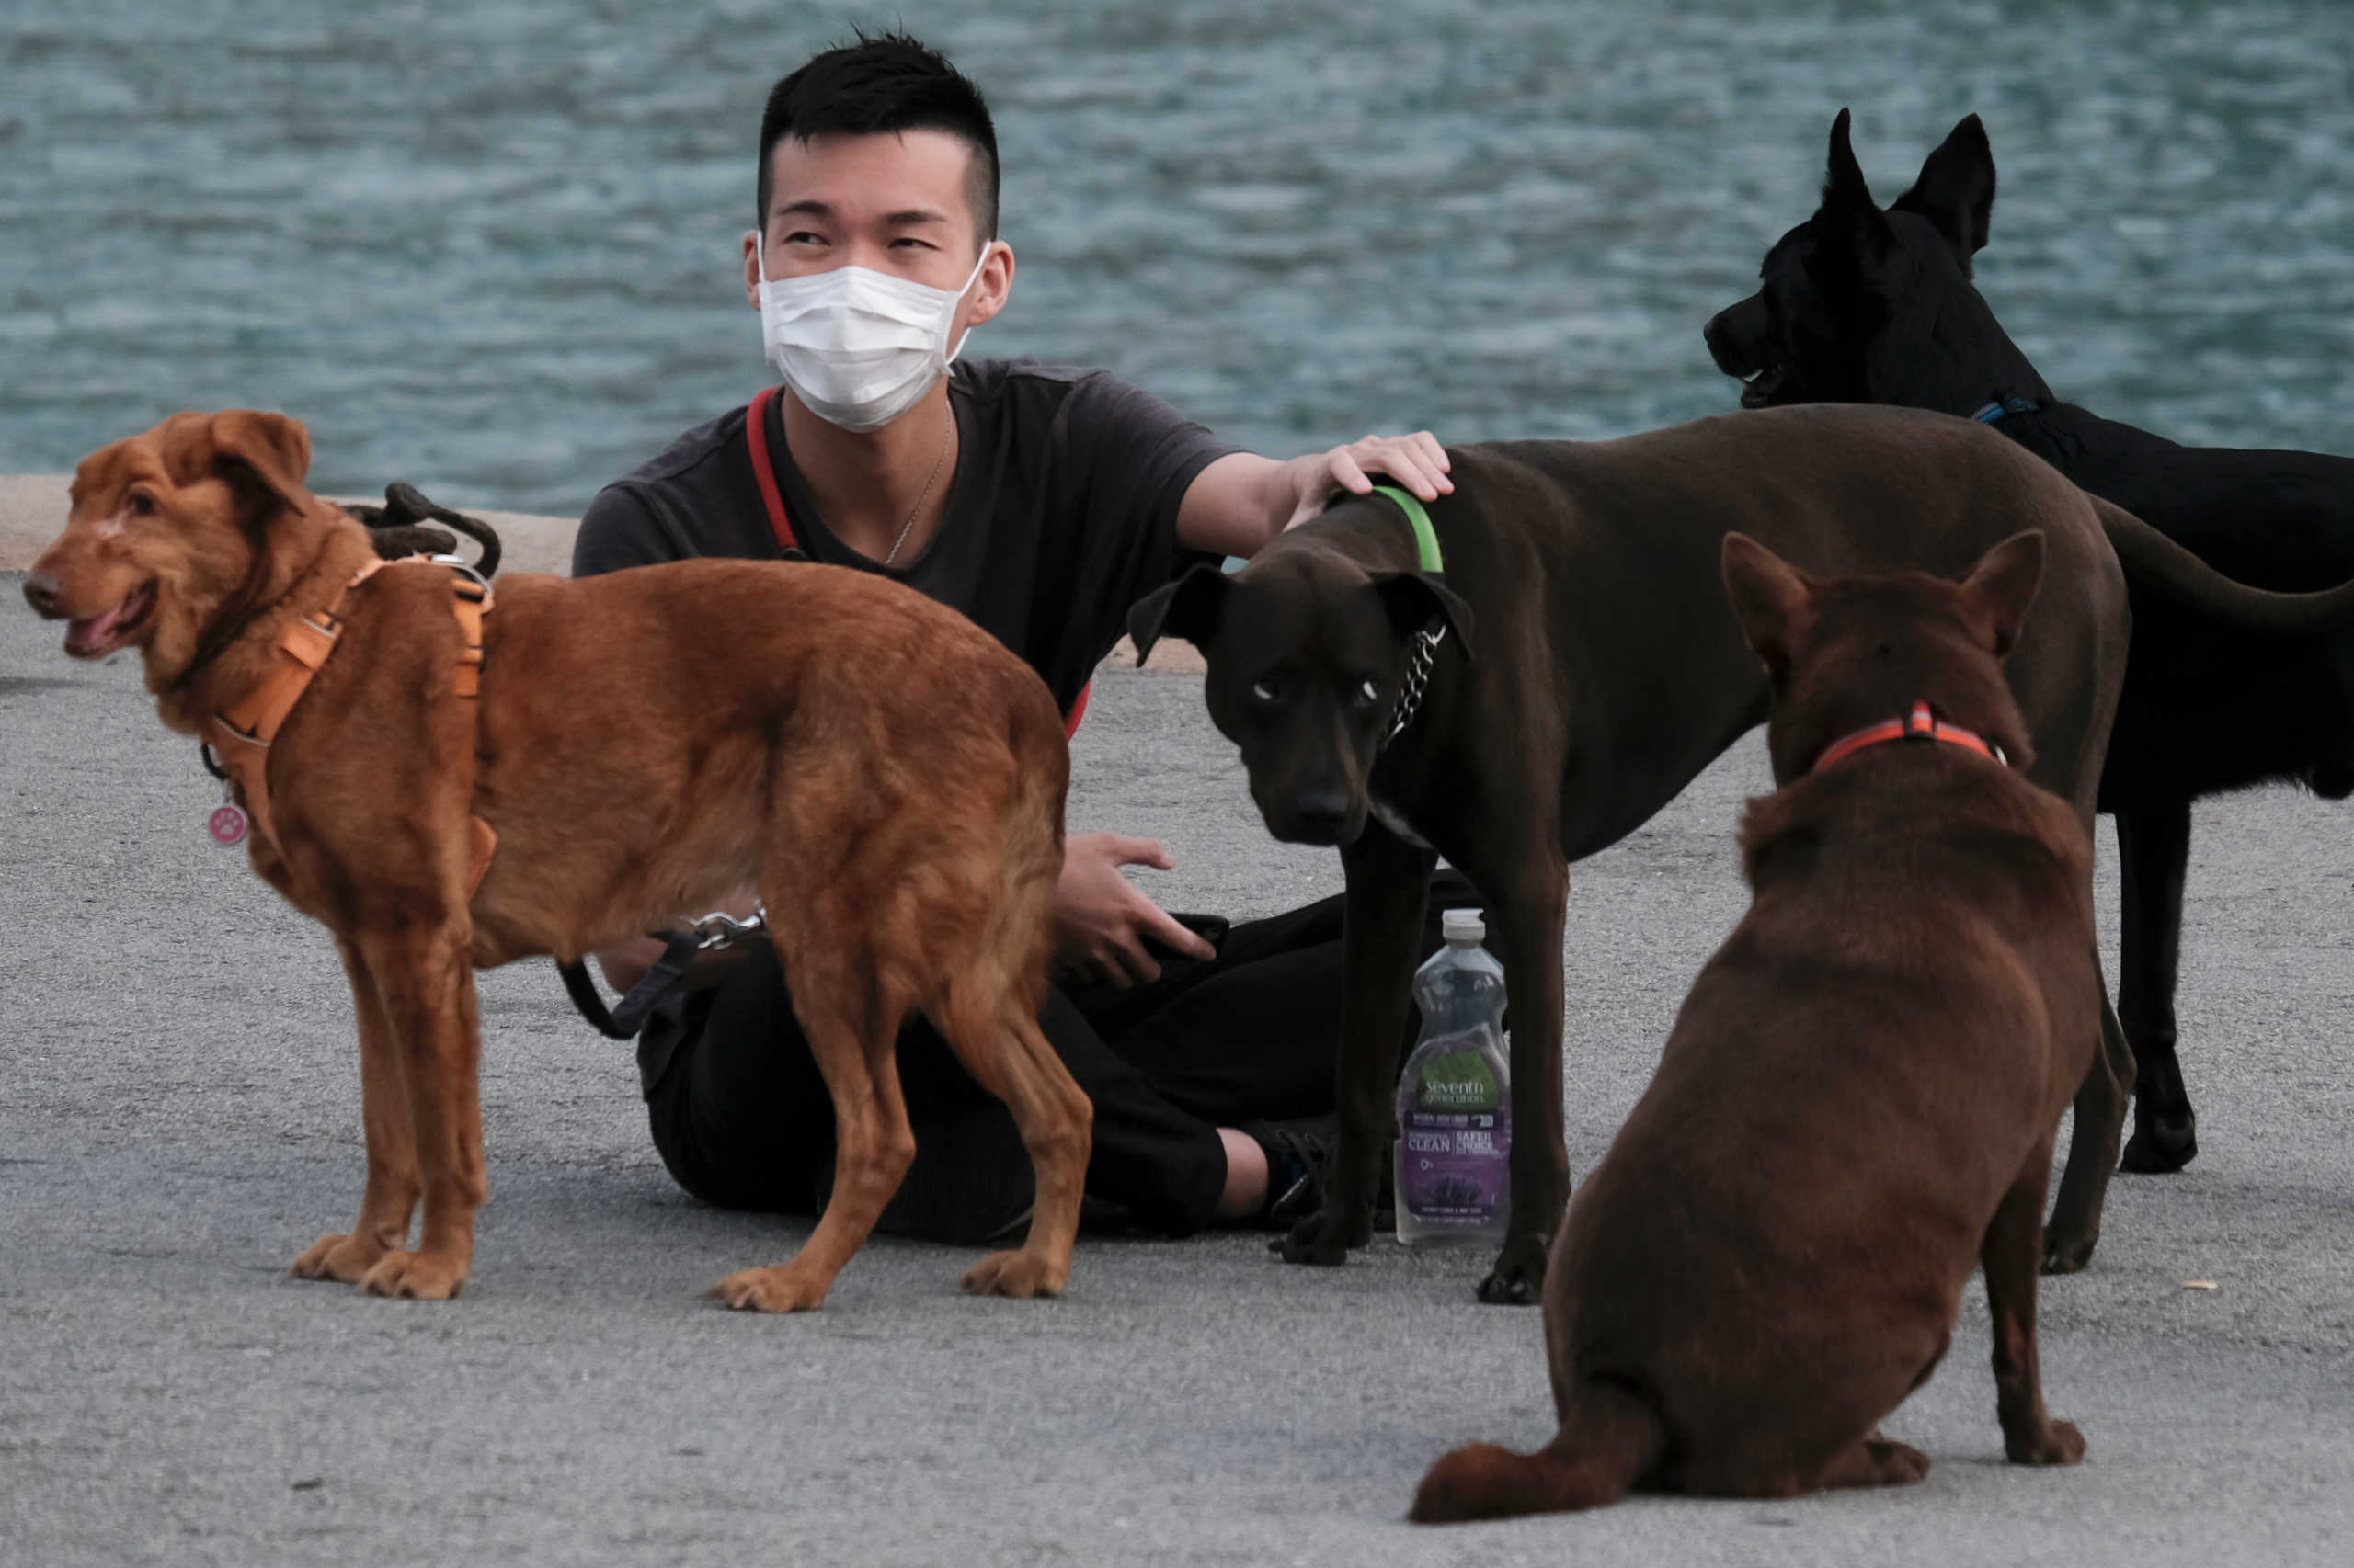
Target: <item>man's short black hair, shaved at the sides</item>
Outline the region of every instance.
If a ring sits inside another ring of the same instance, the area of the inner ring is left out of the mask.
[[[753,221],[767,233],[772,155],[784,137],[895,134],[939,129],[972,148],[965,205],[986,245],[998,238],[998,127],[963,71],[906,33],[883,33],[826,49],[767,94],[760,115],[760,184]]]

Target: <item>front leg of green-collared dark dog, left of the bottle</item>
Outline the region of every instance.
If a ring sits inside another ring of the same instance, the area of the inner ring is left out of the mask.
[[[1342,954],[1349,994],[1339,1026],[1339,1149],[1325,1184],[1323,1210],[1283,1238],[1283,1262],[1342,1264],[1349,1248],[1372,1241],[1372,1198],[1396,1123],[1398,1045],[1412,1003],[1415,946],[1422,904],[1431,890],[1431,850],[1419,850],[1379,822],[1365,822],[1356,843],[1342,845],[1349,878]]]

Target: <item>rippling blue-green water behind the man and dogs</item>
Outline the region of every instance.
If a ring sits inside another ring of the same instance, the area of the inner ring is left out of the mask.
[[[2062,396],[2354,452],[2326,5],[9,0],[0,469],[266,405],[320,487],[574,511],[765,379],[763,94],[902,19],[998,113],[1022,273],[972,351],[1264,452],[1728,407],[1700,325],[1813,210],[1841,104],[1881,200],[1984,115],[1980,285]]]

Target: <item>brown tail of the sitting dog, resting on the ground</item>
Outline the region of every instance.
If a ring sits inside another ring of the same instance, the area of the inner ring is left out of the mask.
[[[1667,1453],[1667,1424],[1634,1389],[1587,1380],[1537,1453],[1469,1443],[1431,1464],[1415,1488],[1415,1523],[1467,1523],[1518,1514],[1568,1514],[1617,1502]]]

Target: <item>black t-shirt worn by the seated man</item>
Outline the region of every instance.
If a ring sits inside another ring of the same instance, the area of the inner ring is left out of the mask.
[[[782,403],[770,400],[767,452],[800,549],[963,610],[1036,669],[1064,711],[1121,638],[1128,605],[1198,560],[1177,546],[1177,506],[1205,466],[1238,450],[1099,370],[960,360],[949,367],[949,511],[920,556],[885,567],[817,516],[784,447]],[[744,412],[687,431],[598,492],[572,574],[692,556],[774,560]]]

